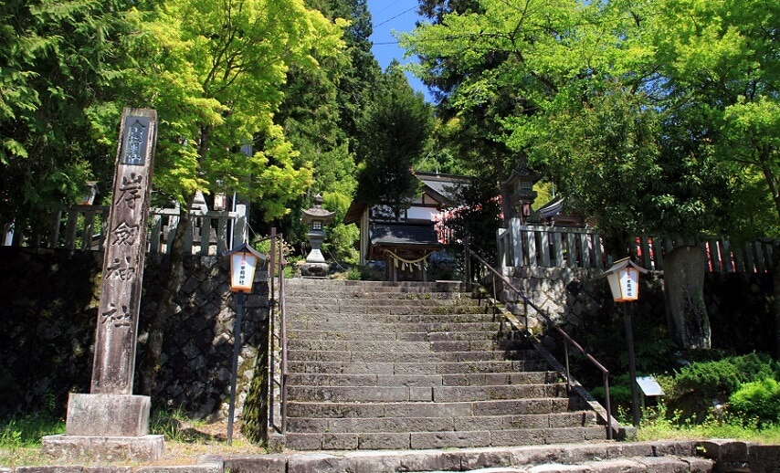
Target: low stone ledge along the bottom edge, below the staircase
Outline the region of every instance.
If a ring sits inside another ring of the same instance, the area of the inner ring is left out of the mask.
[[[734,440],[598,442],[440,450],[201,457],[195,465],[19,467],[0,473],[780,473],[780,446]]]

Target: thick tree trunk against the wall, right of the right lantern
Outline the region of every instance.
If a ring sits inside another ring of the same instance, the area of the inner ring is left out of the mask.
[[[704,305],[707,257],[701,247],[678,247],[664,258],[664,292],[672,340],[681,348],[711,348],[710,318]]]

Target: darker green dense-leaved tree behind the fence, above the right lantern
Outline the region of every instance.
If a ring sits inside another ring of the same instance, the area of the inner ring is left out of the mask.
[[[650,191],[661,178],[659,119],[644,107],[641,97],[616,85],[579,110],[552,113],[532,154],[547,164],[574,212],[595,216],[623,251],[627,232],[655,226],[657,216]]]

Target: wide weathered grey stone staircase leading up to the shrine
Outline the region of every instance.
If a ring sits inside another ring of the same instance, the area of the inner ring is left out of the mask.
[[[293,450],[575,443],[606,426],[459,283],[289,279]]]

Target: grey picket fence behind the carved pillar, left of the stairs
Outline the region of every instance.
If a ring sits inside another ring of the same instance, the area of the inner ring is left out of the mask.
[[[108,205],[71,205],[54,212],[47,229],[34,232],[28,226],[3,226],[3,245],[49,247],[101,251],[105,244],[103,223],[109,218]],[[236,205],[235,212],[193,211],[192,230],[184,239],[184,252],[194,255],[220,255],[240,245],[248,233],[247,206]],[[168,253],[179,224],[178,209],[152,208],[149,211],[147,251]]]

